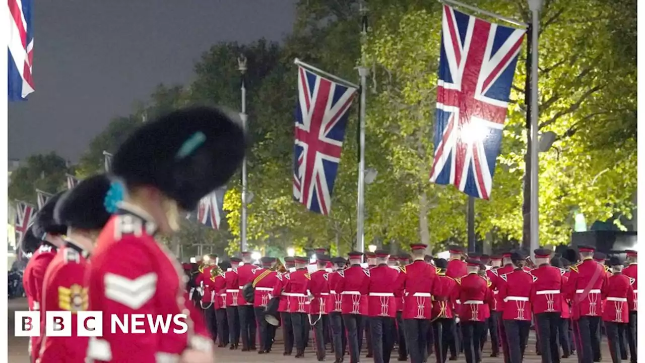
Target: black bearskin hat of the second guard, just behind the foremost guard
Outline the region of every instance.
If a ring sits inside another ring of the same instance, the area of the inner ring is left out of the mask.
[[[56,203],[56,221],[77,229],[103,229],[111,215],[107,198],[110,185],[110,179],[104,174],[83,180]]]

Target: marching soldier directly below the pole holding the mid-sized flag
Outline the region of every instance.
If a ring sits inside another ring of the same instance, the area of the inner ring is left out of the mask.
[[[367,315],[367,299],[363,296],[367,296],[368,293],[370,271],[361,267],[362,255],[356,251],[348,254],[350,267],[337,271],[341,278],[335,286],[336,293],[342,296],[342,320],[347,329],[350,363],[358,363],[361,360],[363,318]]]

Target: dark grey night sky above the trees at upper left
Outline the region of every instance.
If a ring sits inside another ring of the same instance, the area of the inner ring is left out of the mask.
[[[283,39],[295,2],[34,1],[35,92],[9,104],[9,157],[53,150],[77,161],[110,118],[129,114],[155,85],[188,83],[214,43]]]

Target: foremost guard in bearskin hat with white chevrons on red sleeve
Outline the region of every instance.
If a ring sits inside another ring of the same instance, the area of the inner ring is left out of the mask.
[[[99,236],[86,280],[89,309],[103,312],[103,336],[90,338],[90,359],[213,361],[203,317],[186,304],[181,267],[155,235],[178,231],[182,214],[228,181],[244,158],[245,139],[241,123],[221,110],[192,107],[145,123],[119,147],[112,172],[123,181],[124,202]],[[146,329],[133,338],[110,326],[113,314],[180,313],[187,331]]]

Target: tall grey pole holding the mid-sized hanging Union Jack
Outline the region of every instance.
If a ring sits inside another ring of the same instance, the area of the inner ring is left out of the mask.
[[[368,9],[361,1],[361,8],[359,10],[362,16],[362,29],[361,29],[361,44],[364,44],[367,37],[367,12]],[[362,52],[361,52],[362,53]],[[365,220],[365,104],[367,92],[367,76],[369,70],[365,67],[365,55],[362,54],[361,67],[359,67],[359,76],[361,76],[361,113],[359,114],[359,150],[361,152],[361,159],[359,160],[359,190],[358,190],[358,203],[357,203],[357,218],[356,218],[356,251],[365,251],[364,241],[364,220]]]

